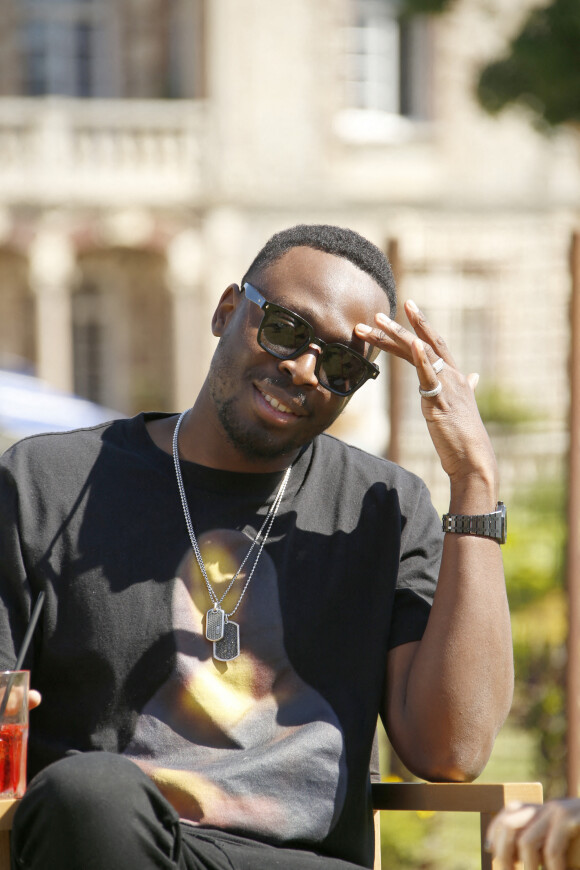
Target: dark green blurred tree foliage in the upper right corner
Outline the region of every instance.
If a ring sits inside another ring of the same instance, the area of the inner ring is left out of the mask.
[[[579,46],[580,0],[552,0],[533,9],[505,56],[482,70],[481,105],[496,114],[519,103],[547,127],[580,122]]]

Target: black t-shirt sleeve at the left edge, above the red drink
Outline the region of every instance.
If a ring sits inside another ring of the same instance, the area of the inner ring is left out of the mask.
[[[0,668],[14,667],[30,617],[30,587],[22,554],[19,499],[10,468],[0,460]]]

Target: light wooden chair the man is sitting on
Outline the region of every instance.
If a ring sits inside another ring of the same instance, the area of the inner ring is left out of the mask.
[[[485,832],[495,813],[513,800],[541,803],[542,786],[537,782],[504,783],[373,783],[376,808],[375,829],[384,810],[433,810],[435,812],[473,812],[480,814],[482,838],[481,866],[493,870],[494,862],[483,849]],[[0,800],[0,870],[10,870],[10,830],[17,801]],[[379,832],[380,843],[380,832]],[[380,870],[380,848],[375,870]],[[580,835],[568,850],[568,870],[580,870]]]

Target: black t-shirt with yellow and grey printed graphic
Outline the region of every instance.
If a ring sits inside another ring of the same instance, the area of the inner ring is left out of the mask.
[[[218,662],[173,461],[145,428],[155,416],[35,436],[0,462],[0,665],[14,663],[31,604],[47,595],[29,662],[43,695],[29,773],[70,751],[123,753],[192,824],[370,866],[387,652],[422,636],[439,569],[428,492],[392,463],[316,438],[232,617],[241,653]],[[221,597],[282,473],[181,468]]]

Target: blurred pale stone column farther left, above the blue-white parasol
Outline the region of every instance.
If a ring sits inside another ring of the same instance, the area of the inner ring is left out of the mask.
[[[30,283],[36,295],[37,374],[53,387],[71,392],[74,267],[74,251],[66,234],[41,229],[30,250]]]

